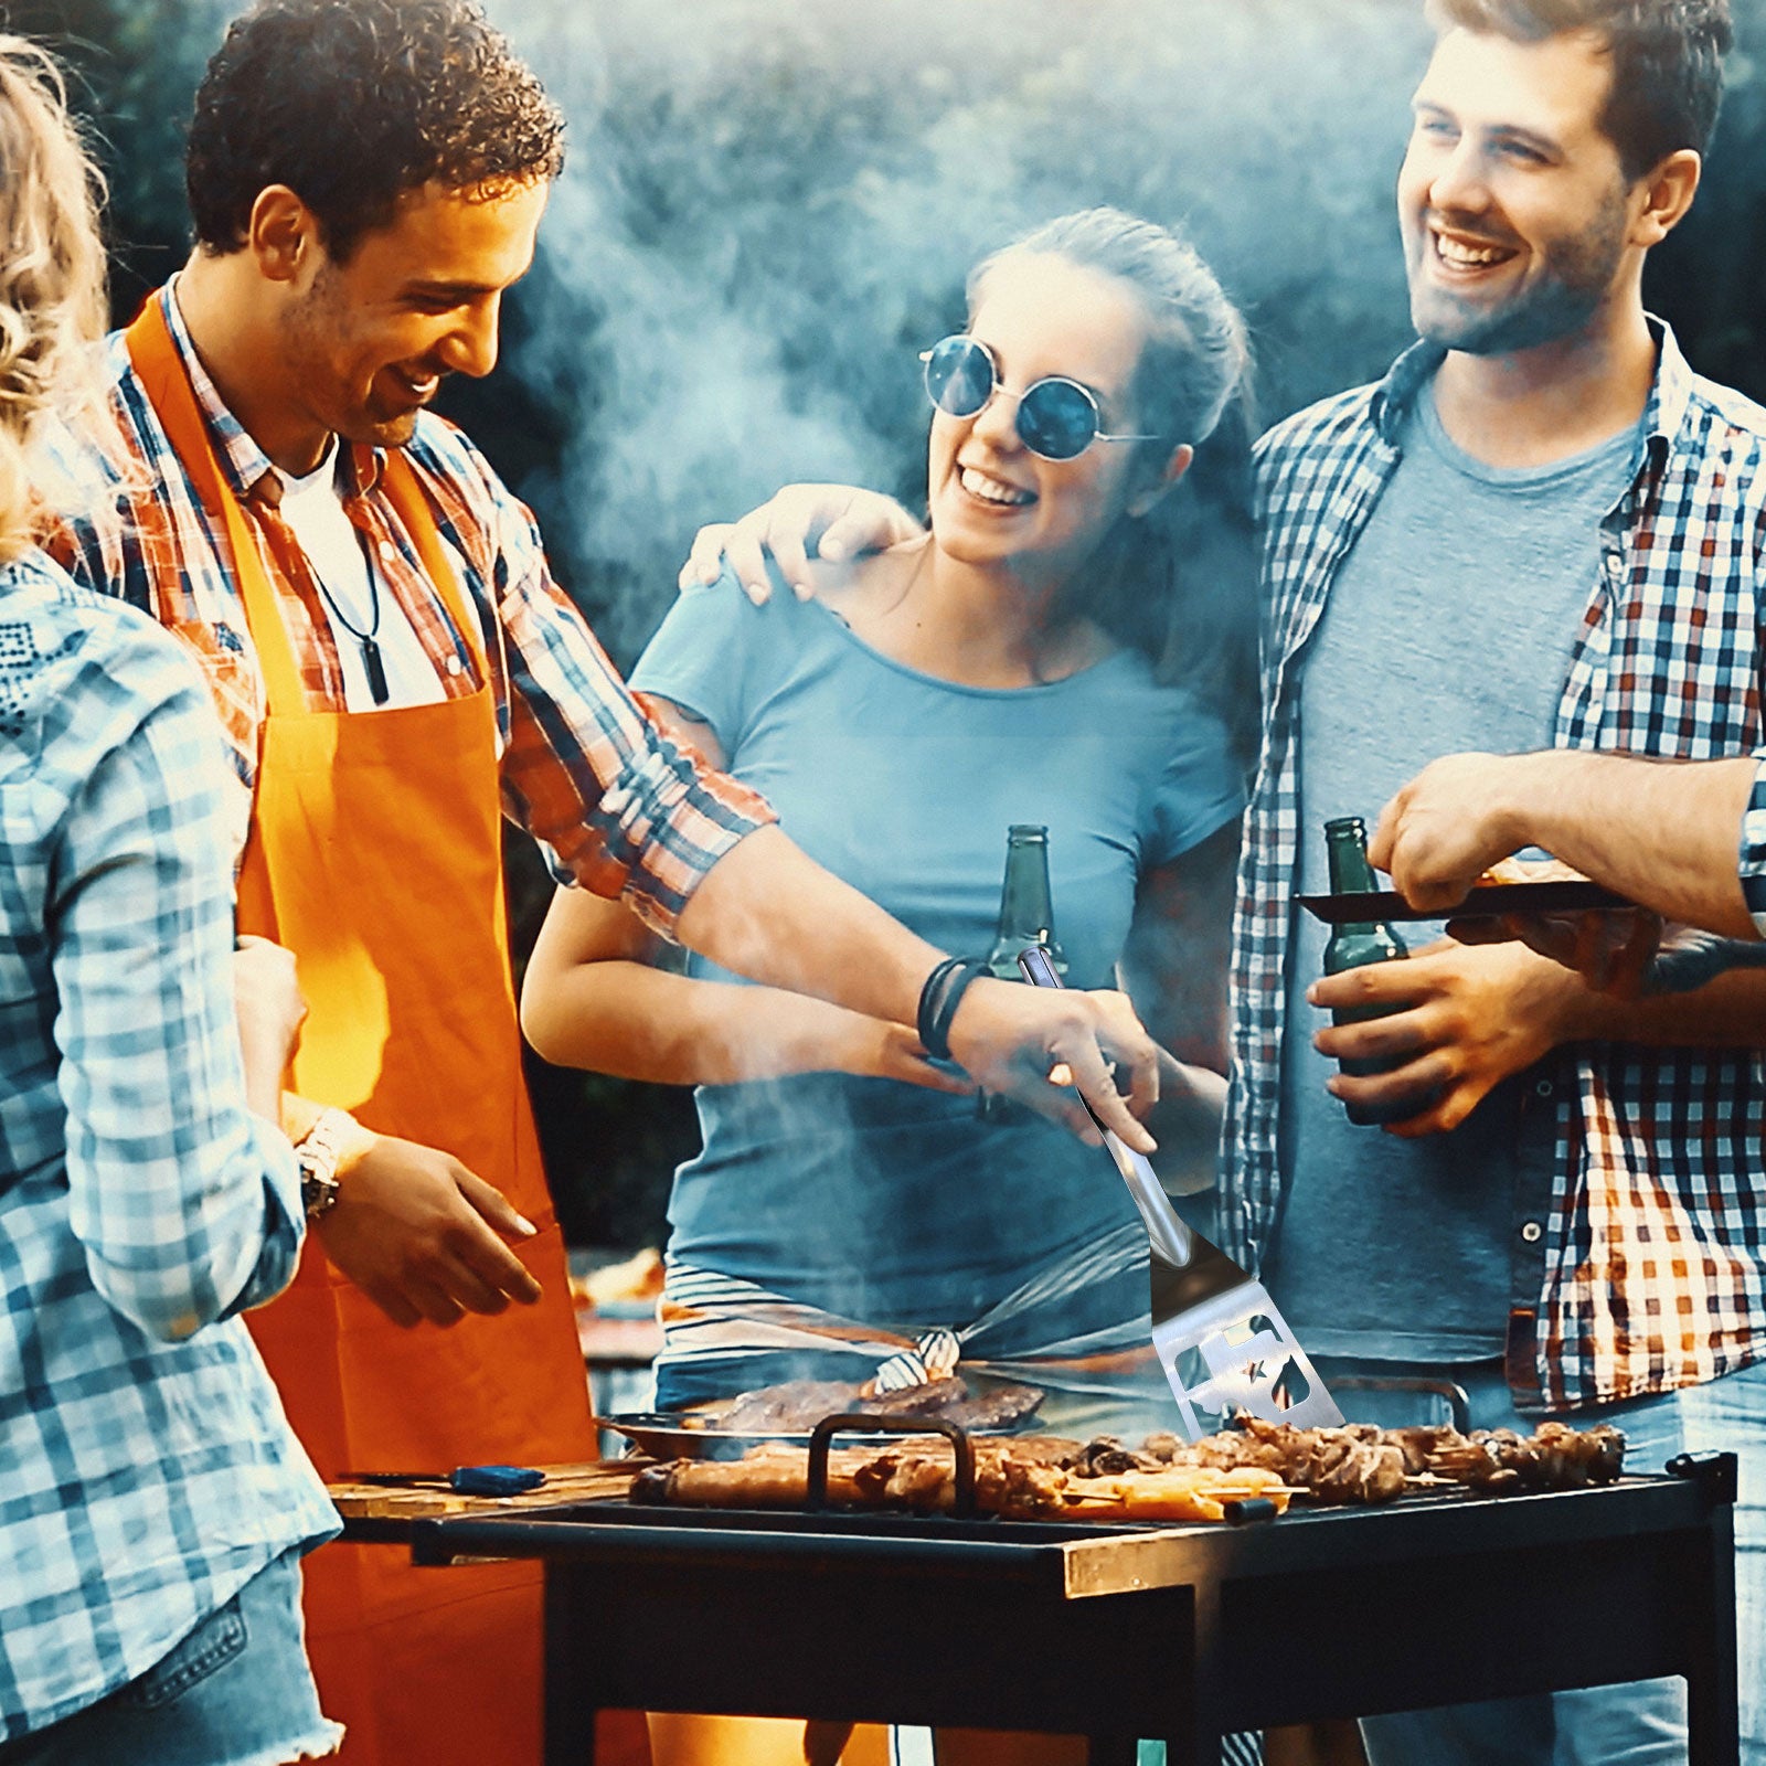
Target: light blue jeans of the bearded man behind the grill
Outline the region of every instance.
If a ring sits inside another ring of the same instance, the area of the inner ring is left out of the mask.
[[[1529,1434],[1499,1362],[1416,1367],[1316,1358],[1326,1386],[1349,1374],[1425,1374],[1455,1379],[1471,1399],[1475,1429]],[[1446,1422],[1445,1400],[1420,1393],[1346,1392],[1360,1422],[1402,1427]],[[1625,1430],[1626,1471],[1660,1471],[1676,1453],[1729,1452],[1740,1460],[1736,1501],[1736,1648],[1741,1688],[1741,1766],[1766,1766],[1766,1363],[1704,1386],[1565,1415],[1577,1427]],[[1584,1616],[1595,1623],[1593,1616]],[[1370,1766],[1685,1766],[1687,1697],[1679,1679],[1589,1687],[1528,1699],[1492,1699],[1434,1711],[1362,1718]]]

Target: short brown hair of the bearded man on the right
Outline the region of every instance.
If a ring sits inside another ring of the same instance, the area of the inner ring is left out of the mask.
[[[1625,177],[1641,178],[1669,154],[1702,154],[1724,95],[1724,57],[1734,41],[1729,0],[1430,0],[1441,28],[1496,32],[1540,42],[1591,30],[1612,60],[1600,125]]]

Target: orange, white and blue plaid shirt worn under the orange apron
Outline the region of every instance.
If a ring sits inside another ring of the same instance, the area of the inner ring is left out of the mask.
[[[191,371],[215,457],[238,494],[275,585],[309,703],[344,708],[330,620],[313,583],[290,581],[260,523],[253,489],[274,473],[263,449],[223,403],[191,344],[173,288],[155,297]],[[141,389],[122,334],[109,341],[108,401],[115,434],[102,434],[113,475],[94,516],[64,519],[46,546],[76,579],[145,609],[196,653],[226,726],[242,786],[231,804],[244,846],[258,772],[265,687],[233,581],[224,530]],[[745,834],[772,819],[766,804],[729,779],[701,772],[625,691],[583,616],[553,581],[533,516],[449,422],[422,411],[406,457],[436,512],[459,569],[475,634],[487,657],[502,740],[503,811],[547,848],[562,881],[620,897],[662,934],[687,897]],[[366,539],[383,593],[410,618],[447,698],[484,682],[475,646],[454,629],[417,547],[380,487],[383,456],[348,450],[344,509]],[[76,472],[90,482],[92,461]],[[111,509],[109,503],[115,502]]]

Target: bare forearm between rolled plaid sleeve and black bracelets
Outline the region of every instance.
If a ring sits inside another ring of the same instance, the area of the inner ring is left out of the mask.
[[[719,858],[675,931],[751,980],[909,1026],[940,959],[777,828],[758,828]]]

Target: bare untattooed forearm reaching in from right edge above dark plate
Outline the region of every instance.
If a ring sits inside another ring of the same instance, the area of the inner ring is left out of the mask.
[[[1727,938],[1759,936],[1736,876],[1757,759],[1678,763],[1554,749],[1505,765],[1517,846],[1542,846],[1664,918]]]

